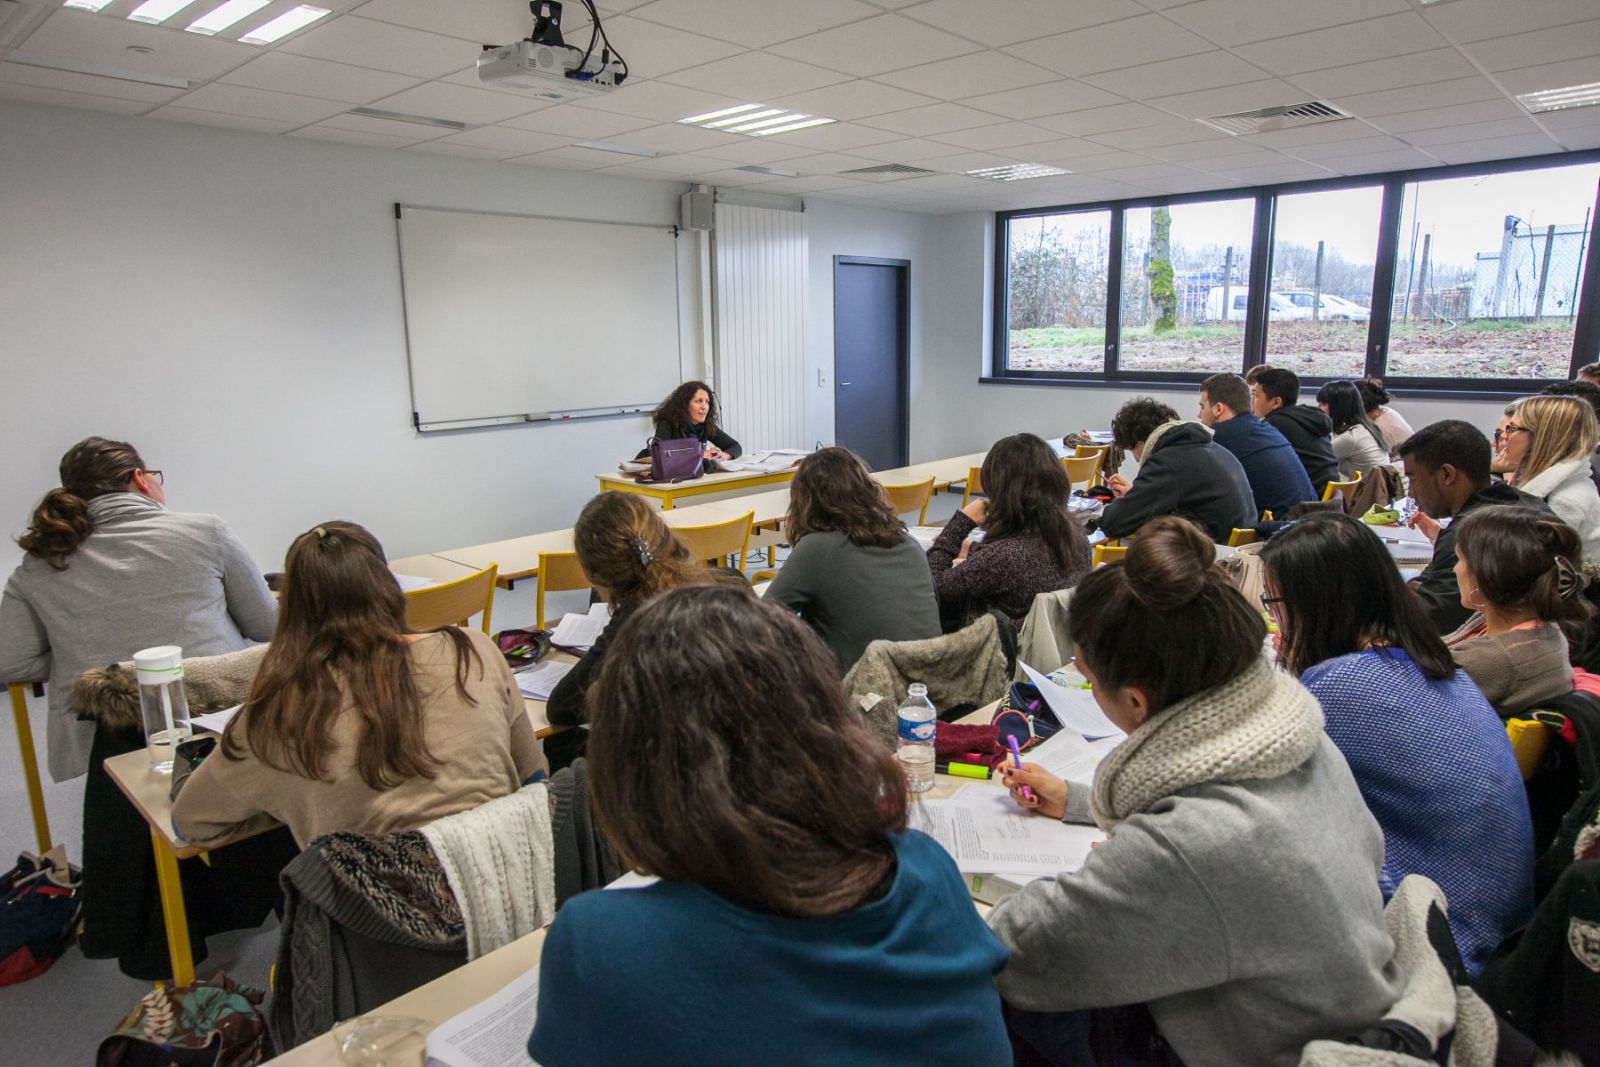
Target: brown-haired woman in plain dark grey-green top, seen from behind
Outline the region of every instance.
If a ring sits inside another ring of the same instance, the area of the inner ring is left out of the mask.
[[[832,649],[840,673],[856,665],[869,641],[939,637],[928,560],[883,486],[848,450],[824,448],[800,462],[784,536],[794,547],[766,600],[805,619]]]

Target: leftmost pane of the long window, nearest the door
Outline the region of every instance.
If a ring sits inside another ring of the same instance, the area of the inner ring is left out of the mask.
[[[1011,371],[1102,371],[1110,211],[1008,221]]]

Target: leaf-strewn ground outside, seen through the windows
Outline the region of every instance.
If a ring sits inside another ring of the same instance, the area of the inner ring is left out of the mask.
[[[1122,331],[1122,368],[1214,374],[1237,371],[1243,326],[1181,326],[1155,336],[1149,328]],[[1106,331],[1099,326],[1013,330],[1010,366],[1030,371],[1099,371]],[[1474,320],[1395,323],[1389,341],[1394,378],[1563,379],[1573,355],[1573,323]],[[1310,378],[1358,378],[1366,362],[1366,323],[1275,322],[1267,328],[1267,362]]]

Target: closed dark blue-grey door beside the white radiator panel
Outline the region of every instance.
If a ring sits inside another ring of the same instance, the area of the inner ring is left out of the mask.
[[[910,453],[906,259],[834,256],[834,440],[874,470]]]

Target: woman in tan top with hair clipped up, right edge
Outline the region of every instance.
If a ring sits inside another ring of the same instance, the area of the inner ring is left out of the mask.
[[[1456,533],[1461,606],[1472,617],[1445,638],[1451,656],[1504,718],[1571,693],[1568,635],[1582,635],[1578,533],[1531,507],[1485,507]]]

